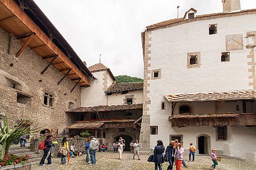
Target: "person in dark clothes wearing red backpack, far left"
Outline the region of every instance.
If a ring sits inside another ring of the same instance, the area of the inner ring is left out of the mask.
[[[47,159],[47,164],[52,164],[51,150],[54,146],[54,144],[52,143],[52,139],[53,135],[48,135],[46,139],[39,144],[38,149],[44,150],[44,156],[41,158],[39,166],[44,166],[45,158]]]

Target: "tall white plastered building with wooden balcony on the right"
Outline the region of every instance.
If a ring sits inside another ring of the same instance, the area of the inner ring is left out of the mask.
[[[222,2],[222,13],[191,8],[142,32],[143,151],[179,139],[256,162],[256,9]]]

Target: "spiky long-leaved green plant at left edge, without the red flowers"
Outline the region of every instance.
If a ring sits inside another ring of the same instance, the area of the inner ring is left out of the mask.
[[[13,141],[20,139],[21,135],[34,134],[40,131],[40,128],[30,129],[30,127],[24,126],[22,123],[19,123],[14,129],[10,130],[7,117],[0,115],[0,118],[3,121],[3,125],[2,122],[0,123],[0,144],[2,145],[0,159],[3,159],[4,155],[8,156],[9,148],[13,144]]]

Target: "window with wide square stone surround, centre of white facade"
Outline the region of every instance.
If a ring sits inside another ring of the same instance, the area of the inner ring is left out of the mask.
[[[187,54],[188,69],[198,68],[201,66],[201,52],[189,52]]]

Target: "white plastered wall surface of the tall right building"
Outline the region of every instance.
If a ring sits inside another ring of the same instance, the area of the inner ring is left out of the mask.
[[[167,145],[170,135],[174,134],[183,134],[185,148],[190,142],[196,144],[198,135],[210,135],[211,147],[224,150],[224,152],[225,144],[244,144],[244,141],[240,140],[240,134],[243,134],[243,138],[256,140],[256,136],[250,135],[250,131],[244,126],[241,126],[242,128],[228,127],[228,140],[224,142],[216,142],[215,128],[171,128],[171,123],[168,120],[171,105],[164,99],[166,94],[253,89],[252,86],[249,86],[249,82],[252,80],[248,79],[248,76],[252,74],[248,72],[247,63],[250,61],[247,58],[250,49],[244,47],[243,50],[230,51],[229,62],[221,62],[221,52],[226,51],[226,35],[243,33],[243,37],[246,37],[246,30],[250,28],[255,30],[255,23],[252,22],[255,20],[256,15],[252,14],[191,22],[152,31],[149,49],[151,50],[149,55],[151,67],[148,69],[161,69],[162,77],[161,79],[148,80],[150,83],[148,96],[151,100],[151,104],[148,105],[148,114],[151,115],[151,125],[159,127],[158,134],[150,137],[151,148],[156,145],[156,140],[159,139]],[[211,24],[217,24],[218,30],[215,35],[208,33],[208,26]],[[246,38],[243,42],[246,45]],[[201,67],[187,68],[188,52],[201,52]],[[166,101],[165,110],[161,110],[161,101]],[[210,105],[212,104],[210,103]],[[229,107],[229,103],[225,106]],[[203,111],[204,109],[197,108],[196,110]],[[222,111],[225,110],[220,109],[220,112]],[[255,144],[252,147],[250,149],[256,150]],[[232,149],[230,152],[231,155],[236,154]],[[239,152],[241,157],[245,158],[245,151],[242,148],[239,149]]]

